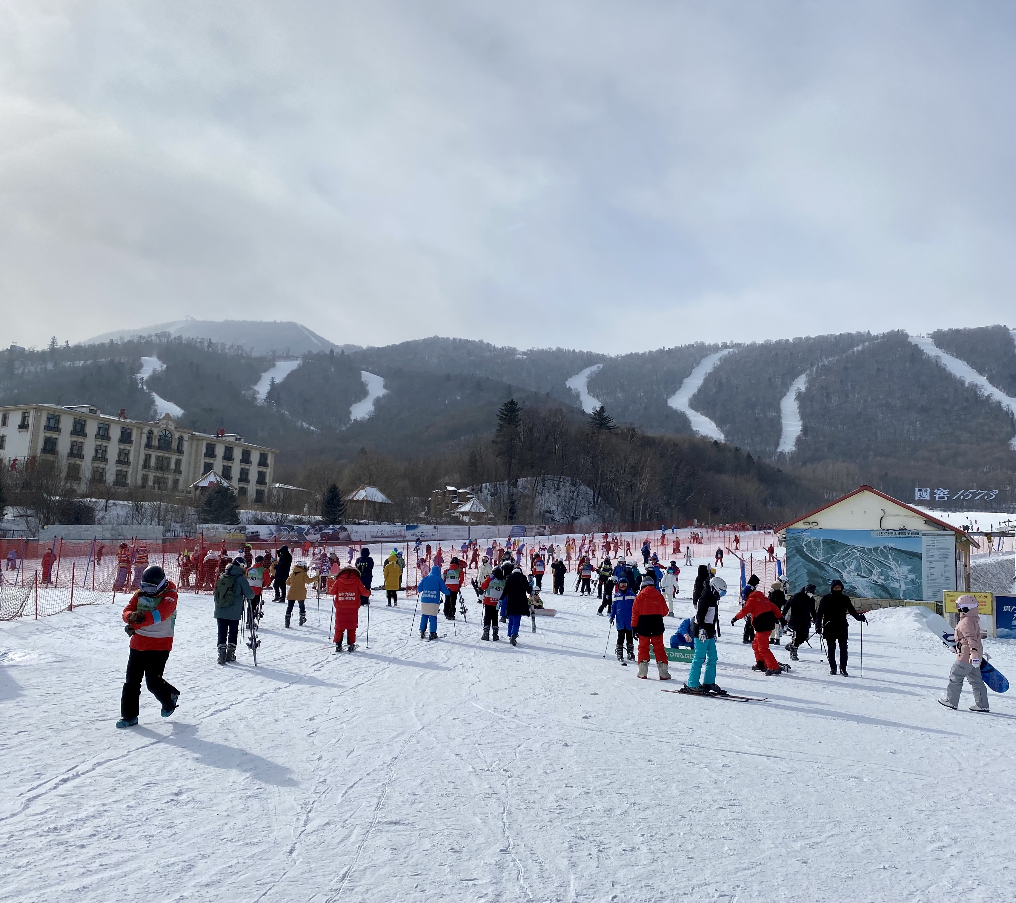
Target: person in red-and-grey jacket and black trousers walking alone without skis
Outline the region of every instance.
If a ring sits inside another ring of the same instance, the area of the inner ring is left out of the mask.
[[[130,655],[117,727],[137,724],[141,678],[148,692],[163,704],[163,717],[169,718],[180,699],[180,691],[163,676],[177,623],[177,587],[166,579],[158,565],[152,565],[141,575],[141,585],[124,607],[123,619],[127,625],[124,630],[130,637]]]

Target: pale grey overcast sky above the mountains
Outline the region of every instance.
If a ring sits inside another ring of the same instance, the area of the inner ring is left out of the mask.
[[[7,0],[0,343],[185,315],[609,352],[1012,325],[1014,18]]]

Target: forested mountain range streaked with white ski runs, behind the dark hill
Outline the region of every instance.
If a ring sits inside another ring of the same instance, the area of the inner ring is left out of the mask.
[[[279,324],[247,325],[233,334]],[[934,345],[903,332],[858,332],[612,358],[432,337],[331,346],[289,356],[285,364],[240,343],[163,330],[0,351],[0,403],[89,402],[150,417],[150,389],[183,407],[187,426],[225,428],[276,447],[280,467],[299,471],[311,458],[350,460],[362,449],[406,459],[458,454],[489,441],[495,412],[509,397],[532,411],[559,410],[562,423],[582,427],[579,394],[566,383],[598,365],[587,392],[619,426],[688,436],[708,418],[753,460],[797,468],[837,491],[864,480],[912,500],[914,487],[962,485],[997,489],[1000,502],[1012,504],[1013,405],[998,392],[989,397],[981,377],[1010,398],[1016,392],[1013,333],[991,326],[943,330],[931,339]],[[952,357],[934,357],[940,351]],[[142,358],[163,365],[144,387],[136,378]],[[965,380],[980,380],[981,388]],[[368,384],[377,397],[367,397]],[[686,406],[679,410],[672,401]],[[501,478],[495,467],[484,470],[486,480]]]

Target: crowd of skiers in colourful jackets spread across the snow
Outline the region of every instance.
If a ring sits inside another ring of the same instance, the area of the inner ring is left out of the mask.
[[[484,611],[482,639],[497,642],[500,626],[506,625],[508,640],[514,646],[518,643],[522,619],[534,617],[536,610],[544,607],[541,592],[547,571],[553,577],[553,592],[563,593],[568,568],[560,556],[553,558],[548,567],[545,553],[533,550],[526,576],[521,567],[521,549],[518,545],[509,544],[498,550],[492,547],[488,552],[490,555],[485,555],[478,563],[478,574],[471,581]],[[583,550],[576,565],[576,589],[582,595],[591,596],[592,581],[595,579],[599,599],[596,614],[602,617],[607,611],[617,632],[615,652],[619,661],[627,664],[626,654],[629,661],[636,660],[638,676],[645,680],[651,647],[659,680],[670,681],[663,618],[675,617],[674,602],[680,591],[681,569],[677,561],[672,560],[664,570],[647,545],[640,552],[643,556],[642,569],[635,560],[629,561],[624,556],[618,557],[616,563],[605,556],[599,565],[594,566]],[[357,649],[360,611],[370,604],[374,579],[374,560],[368,547],[361,551],[355,562],[351,557],[344,566],[334,554],[323,556],[313,563],[316,576],[312,576],[312,568],[306,561],[294,565],[293,557],[284,545],[275,558],[267,552],[253,556],[248,545],[236,557],[227,557],[225,563],[221,556],[213,560],[217,574],[213,617],[217,625],[218,664],[236,660],[239,626],[245,618],[248,646],[256,652],[259,644],[257,626],[264,614],[263,595],[272,587],[275,590],[274,600],[287,603],[285,628],[291,627],[295,606],[299,606],[299,624],[303,626],[307,621],[305,605],[308,589],[316,579],[324,581],[325,592],[332,596],[335,651],[340,652],[344,648],[346,652],[353,652]],[[133,566],[136,561],[135,552],[130,565]],[[397,549],[393,549],[383,567],[383,587],[389,606],[398,604],[404,569],[402,556]],[[441,563],[435,557],[429,573],[417,586],[421,640],[439,638],[439,615],[443,614],[446,620],[452,622],[457,620],[458,614],[464,618],[467,609],[462,590],[467,581],[466,570],[464,555],[462,560],[452,556],[443,572]],[[123,611],[126,631],[131,639],[118,727],[137,723],[142,678],[148,690],[163,704],[164,717],[173,713],[179,699],[179,691],[163,675],[173,646],[177,587],[166,578],[158,566],[145,567],[136,579],[137,590]],[[200,578],[202,581],[205,579],[204,575]],[[752,669],[770,676],[790,669],[789,663],[777,661],[770,648],[779,644],[786,629],[790,632],[790,640],[785,648],[792,661],[799,660],[800,647],[817,635],[828,651],[829,672],[848,676],[847,618],[865,623],[867,619],[844,593],[843,583],[833,580],[829,592],[816,601],[817,587],[814,584],[808,584],[787,598],[783,581],[774,582],[768,594],[760,591],[759,582],[756,575],[748,579],[741,592],[741,607],[731,621],[732,626],[745,621],[743,642],[751,643],[756,659]],[[719,600],[725,591],[726,584],[716,576],[715,570],[708,565],[699,565],[692,592],[694,614],[681,623],[678,632],[671,638],[672,647],[688,646],[694,650],[688,679],[681,692],[726,695],[716,684],[716,640],[720,636],[718,610]],[[972,606],[969,604],[971,599]],[[979,674],[981,647],[979,623],[975,623],[976,599],[962,596],[960,602],[965,606],[961,609],[964,618],[973,612],[973,620],[970,621],[973,626],[961,621],[961,627],[957,628],[958,659],[950,674],[946,699],[940,701],[955,708],[963,682],[967,680],[974,692],[974,710],[987,711],[987,693]]]

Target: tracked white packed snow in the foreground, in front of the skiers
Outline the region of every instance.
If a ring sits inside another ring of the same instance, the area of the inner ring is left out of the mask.
[[[851,622],[851,676],[813,639],[766,678],[724,600],[717,681],[768,702],[697,699],[660,692],[687,665],[622,667],[574,581],[517,648],[471,589],[433,643],[376,590],[339,655],[325,600],[285,630],[269,598],[257,668],[216,665],[212,601],[182,595],[180,707],[142,688],[123,731],[120,599],[0,624],[0,901],[1014,898],[1016,705],[938,705],[953,656],[914,612],[870,616],[864,676]]]

